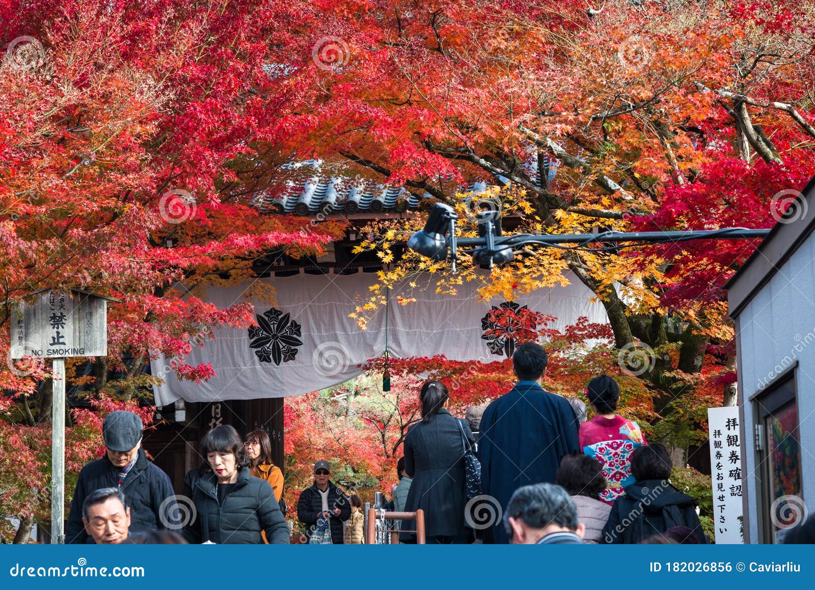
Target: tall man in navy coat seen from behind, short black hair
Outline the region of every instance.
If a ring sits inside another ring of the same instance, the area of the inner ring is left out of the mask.
[[[540,386],[547,361],[541,346],[518,346],[513,354],[518,383],[494,400],[481,419],[483,493],[495,498],[502,511],[519,487],[553,483],[562,458],[579,452],[575,411],[565,398]],[[485,532],[487,542],[509,543],[500,519]]]

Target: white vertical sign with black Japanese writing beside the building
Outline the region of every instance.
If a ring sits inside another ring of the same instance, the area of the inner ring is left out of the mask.
[[[742,544],[742,441],[738,406],[708,407],[716,544]]]

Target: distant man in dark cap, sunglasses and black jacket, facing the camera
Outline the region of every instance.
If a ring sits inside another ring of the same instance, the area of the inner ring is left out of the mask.
[[[351,515],[351,503],[347,495],[331,482],[331,465],[319,460],[314,464],[314,485],[306,487],[297,500],[297,519],[306,525],[306,539],[311,539],[320,514],[331,524],[331,541],[343,543],[342,522]]]

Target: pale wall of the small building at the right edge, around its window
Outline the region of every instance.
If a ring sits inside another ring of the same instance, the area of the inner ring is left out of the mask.
[[[804,501],[815,513],[815,238],[810,237],[738,315],[739,405],[745,425],[745,515],[751,542],[759,533],[754,419],[749,401],[795,361]]]

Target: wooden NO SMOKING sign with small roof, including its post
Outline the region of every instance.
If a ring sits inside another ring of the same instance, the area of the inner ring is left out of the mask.
[[[108,301],[79,289],[32,293],[11,319],[11,359],[54,359],[51,396],[51,543],[63,544],[65,508],[65,359],[107,356]]]

